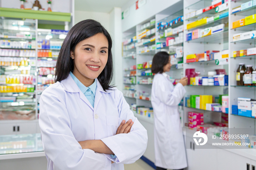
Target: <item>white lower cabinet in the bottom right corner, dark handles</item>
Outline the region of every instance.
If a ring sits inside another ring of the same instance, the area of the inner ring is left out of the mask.
[[[218,149],[217,162],[218,170],[251,170],[251,159],[242,157],[240,155],[234,154],[223,149]]]

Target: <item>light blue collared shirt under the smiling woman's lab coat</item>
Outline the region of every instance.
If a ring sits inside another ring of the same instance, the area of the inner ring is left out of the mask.
[[[70,72],[69,74],[75,81],[76,85],[78,85],[79,89],[82,91],[84,96],[88,99],[90,104],[94,107],[94,99],[95,99],[95,93],[97,88],[96,80],[94,80],[92,85],[90,85],[89,87],[86,87],[78,80],[78,78],[76,78],[76,76],[72,72]]]

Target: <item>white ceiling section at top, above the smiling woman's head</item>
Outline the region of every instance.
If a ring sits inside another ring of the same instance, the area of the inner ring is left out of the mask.
[[[123,7],[129,0],[75,0],[75,11],[111,12],[114,7]]]

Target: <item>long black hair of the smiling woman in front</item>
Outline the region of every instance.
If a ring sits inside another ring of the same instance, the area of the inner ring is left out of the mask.
[[[74,61],[70,57],[70,52],[75,51],[76,45],[84,39],[90,38],[95,34],[102,33],[108,39],[108,61],[98,81],[103,90],[108,90],[113,78],[113,58],[112,58],[112,39],[108,31],[97,21],[87,19],[75,24],[68,32],[60,49],[59,57],[56,63],[55,82],[64,80],[68,77],[70,71],[74,70]]]

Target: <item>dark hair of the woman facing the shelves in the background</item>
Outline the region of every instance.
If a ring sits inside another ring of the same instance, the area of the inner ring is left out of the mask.
[[[152,61],[151,72],[152,73],[163,73],[163,66],[169,61],[169,54],[165,51],[160,51],[154,55]]]

